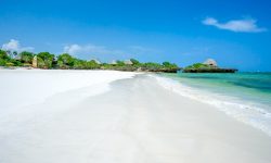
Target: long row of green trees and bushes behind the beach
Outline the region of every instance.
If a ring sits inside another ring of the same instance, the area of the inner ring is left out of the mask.
[[[163,64],[146,62],[141,63],[136,59],[127,61],[116,61],[114,63],[100,63],[95,60],[86,61],[77,59],[68,53],[54,55],[50,52],[39,52],[37,54],[28,51],[21,53],[0,50],[0,66],[25,66],[30,67],[36,61],[39,68],[61,68],[61,70],[116,70],[116,71],[144,71],[176,73],[180,68],[177,64],[163,62]]]

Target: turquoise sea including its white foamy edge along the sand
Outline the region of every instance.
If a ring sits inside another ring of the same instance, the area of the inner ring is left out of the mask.
[[[227,114],[271,136],[271,73],[163,74],[194,99],[215,104]]]

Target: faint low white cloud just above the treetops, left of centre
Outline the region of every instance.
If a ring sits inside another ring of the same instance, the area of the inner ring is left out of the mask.
[[[63,52],[69,53],[73,55],[77,54],[124,54],[120,50],[111,50],[106,47],[101,46],[94,46],[94,45],[86,45],[86,46],[79,46],[79,45],[70,45],[65,46],[63,49]]]

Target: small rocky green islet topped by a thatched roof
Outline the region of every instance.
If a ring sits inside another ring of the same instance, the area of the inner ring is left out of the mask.
[[[214,59],[208,59],[204,63],[195,63],[186,66],[182,71],[183,73],[235,73],[236,68],[223,68],[219,67]]]

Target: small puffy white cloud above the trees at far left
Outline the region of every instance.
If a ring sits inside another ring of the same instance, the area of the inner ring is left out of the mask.
[[[33,47],[22,47],[18,40],[11,39],[8,43],[2,45],[2,50],[10,50],[10,51],[33,51]]]

